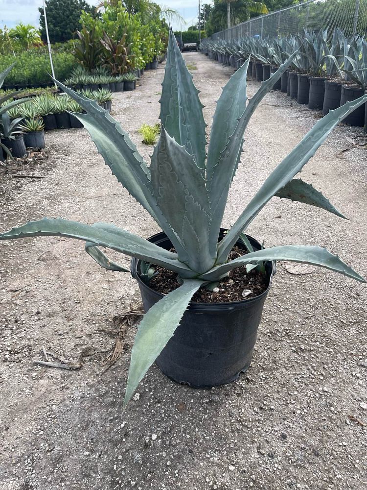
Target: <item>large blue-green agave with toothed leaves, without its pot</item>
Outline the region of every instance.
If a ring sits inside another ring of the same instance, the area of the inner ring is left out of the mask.
[[[289,260],[324,267],[366,282],[338,256],[319,246],[284,245],[250,251],[229,260],[241,234],[274,196],[312,204],[343,216],[311,185],[294,179],[315,154],[332,129],[367,96],[330,111],[269,175],[240,217],[219,242],[229,187],[243,146],[244,131],[264,96],[292,63],[293,54],[251,98],[246,95],[249,59],[234,73],[217,102],[206,153],[206,124],[199,92],[194,86],[175,38],[170,33],[162,83],[161,134],[148,166],[110,114],[95,101],[60,82],[58,85],[85,110],[78,119],[92,136],[117,180],[157,221],[175,252],[165,250],[109,223],[83,224],[63,219],[43,219],[0,235],[0,240],[38,236],[65,236],[86,242],[86,251],[108,270],[127,271],[112,262],[99,247],[107,247],[178,274],[182,285],[166,294],[138,326],[125,393],[124,406],[138,383],[174,334],[195,292],[219,281],[229,270],[264,261]],[[246,272],[244,268],[244,273]]]

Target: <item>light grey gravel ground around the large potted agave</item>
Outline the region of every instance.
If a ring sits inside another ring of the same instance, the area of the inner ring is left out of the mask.
[[[196,63],[210,122],[231,70],[200,53],[185,58]],[[114,97],[113,115],[146,158],[151,148],[137,130],[157,122],[162,77],[160,66]],[[250,95],[257,87],[249,83]],[[279,92],[265,98],[248,127],[226,226],[317,117]],[[363,141],[361,129],[339,126],[302,172],[350,221],[275,198],[249,233],[266,246],[325,245],[366,276],[366,148],[351,144]],[[111,221],[144,237],[158,231],[85,130],[49,133],[46,144],[47,163],[33,169],[45,178],[0,182],[0,229],[46,215]],[[123,413],[135,326],[120,331],[118,362],[105,373],[102,363],[115,345],[113,317],[139,299],[135,281],[100,269],[81,242],[2,242],[1,490],[366,489],[367,288],[322,269],[277,269],[246,374],[201,391],[153,366]],[[42,345],[68,360],[83,353],[82,368],[35,366]]]

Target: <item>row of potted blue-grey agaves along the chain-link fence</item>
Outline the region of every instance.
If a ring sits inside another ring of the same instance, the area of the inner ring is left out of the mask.
[[[251,56],[248,74],[258,81],[267,80],[298,51],[274,88],[310,109],[322,110],[324,115],[367,90],[367,42],[360,36],[346,37],[339,29],[330,39],[327,30],[319,34],[305,31],[304,36],[277,39],[204,40],[201,49],[210,58],[236,69]],[[367,130],[367,107],[356,109],[344,123],[365,126]]]

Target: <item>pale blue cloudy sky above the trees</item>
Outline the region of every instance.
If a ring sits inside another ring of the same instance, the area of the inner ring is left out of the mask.
[[[96,5],[97,0],[87,0],[91,5]],[[174,8],[186,21],[186,25],[182,26],[182,30],[187,30],[189,25],[193,24],[197,19],[198,0],[163,0],[157,1],[162,6]],[[202,3],[204,3],[202,1]],[[4,25],[13,27],[14,25],[23,22],[23,24],[39,25],[40,14],[38,7],[42,6],[42,0],[0,0],[0,27]],[[180,23],[173,22],[174,30],[180,30]]]

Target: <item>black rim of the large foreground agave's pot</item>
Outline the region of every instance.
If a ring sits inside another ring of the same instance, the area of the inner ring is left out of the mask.
[[[228,231],[228,230],[225,230],[224,228],[221,228],[221,232],[222,231]],[[248,238],[252,239],[254,242],[256,242],[256,244],[259,245],[259,248],[261,247],[261,245],[259,244],[259,242],[256,239],[254,239],[252,236],[247,235],[247,234],[246,234],[246,236]],[[150,242],[152,242],[152,243],[155,243],[152,240],[152,239],[155,239],[155,238],[168,239],[168,237],[166,236],[166,234],[161,231],[160,233],[156,233],[155,235],[152,235],[147,240],[150,241]],[[166,294],[159,293],[158,291],[150,288],[147,284],[145,284],[140,279],[140,277],[138,275],[138,263],[139,262],[140,262],[140,259],[137,259],[135,257],[133,257],[131,259],[130,271],[131,271],[132,277],[138,281],[138,283],[139,283],[140,286],[142,286],[144,289],[147,289],[147,290],[149,290],[149,291],[157,294],[160,297],[160,299],[163,298],[164,296],[166,296]],[[235,306],[250,305],[250,304],[252,304],[255,301],[261,300],[263,297],[266,297],[267,294],[269,293],[269,290],[270,290],[271,285],[272,285],[272,282],[273,282],[273,276],[275,275],[275,272],[276,272],[275,261],[274,260],[273,261],[267,260],[266,262],[272,264],[272,270],[271,270],[270,276],[269,276],[269,284],[268,284],[268,287],[261,294],[258,294],[257,296],[255,296],[253,298],[250,298],[250,299],[242,299],[241,301],[226,301],[226,302],[221,302],[221,303],[204,303],[204,302],[197,303],[197,302],[190,301],[189,304],[188,304],[188,308],[191,311],[193,309],[195,309],[195,310],[206,310],[206,309],[209,309],[209,308],[211,310],[217,310],[217,311],[218,310],[223,310],[223,309],[228,309],[230,311],[232,309],[231,307],[233,307],[233,309],[234,309]]]

